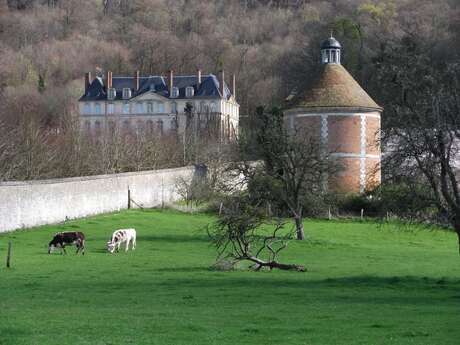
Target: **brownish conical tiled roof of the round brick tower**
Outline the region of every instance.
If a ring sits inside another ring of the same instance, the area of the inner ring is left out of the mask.
[[[382,110],[340,64],[324,64],[307,91],[296,97],[302,108],[366,108]]]

